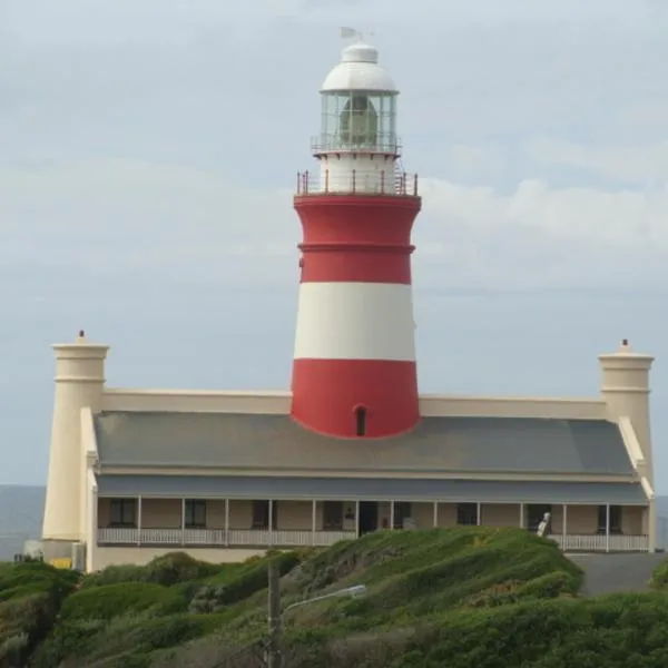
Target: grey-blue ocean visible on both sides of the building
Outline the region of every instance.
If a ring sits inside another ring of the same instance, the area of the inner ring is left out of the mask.
[[[41,536],[45,511],[43,487],[0,484],[0,561],[10,561],[23,551],[27,540]],[[668,543],[668,497],[658,497],[658,543]]]

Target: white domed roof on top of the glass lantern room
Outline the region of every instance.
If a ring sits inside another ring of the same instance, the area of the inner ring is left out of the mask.
[[[321,92],[327,90],[377,90],[399,92],[392,77],[379,65],[379,52],[370,45],[351,45],[343,50],[341,62],[325,78]]]

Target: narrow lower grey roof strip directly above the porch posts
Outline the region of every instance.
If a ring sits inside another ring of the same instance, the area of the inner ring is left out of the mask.
[[[216,475],[98,475],[100,497],[646,504],[639,483]]]

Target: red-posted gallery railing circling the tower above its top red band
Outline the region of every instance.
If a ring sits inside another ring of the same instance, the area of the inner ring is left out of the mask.
[[[350,174],[297,173],[297,196],[318,195],[384,195],[418,197],[418,175],[394,170],[367,171],[353,169]]]

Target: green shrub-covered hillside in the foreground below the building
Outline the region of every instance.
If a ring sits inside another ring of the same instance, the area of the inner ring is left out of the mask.
[[[263,665],[267,564],[286,668],[665,668],[668,564],[646,595],[581,598],[581,571],[519,529],[382,531],[328,550],[213,566],[174,553],[79,578],[0,564],[0,668]]]

